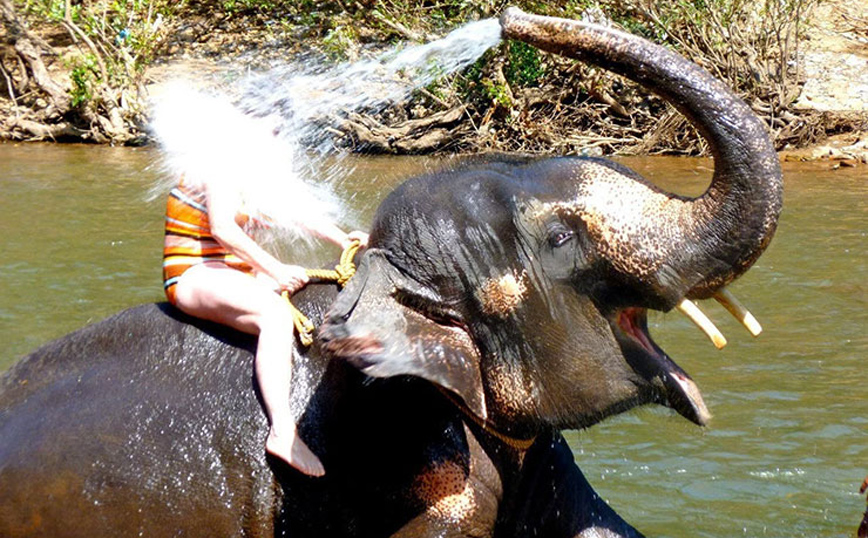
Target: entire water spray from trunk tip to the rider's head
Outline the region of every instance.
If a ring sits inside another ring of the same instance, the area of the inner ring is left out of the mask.
[[[208,91],[179,81],[162,92],[152,114],[167,175],[231,186],[247,208],[306,238],[306,228],[340,220],[347,210],[339,200],[349,197],[339,191],[350,169],[334,158],[325,126],[400,102],[499,40],[500,25],[488,19],[432,43],[325,70],[277,66]]]

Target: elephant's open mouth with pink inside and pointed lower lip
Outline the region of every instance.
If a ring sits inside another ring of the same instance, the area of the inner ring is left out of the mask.
[[[705,426],[711,413],[696,383],[654,343],[648,333],[647,310],[624,308],[615,313],[616,328],[624,356],[655,391],[654,399],[676,410],[687,420]]]

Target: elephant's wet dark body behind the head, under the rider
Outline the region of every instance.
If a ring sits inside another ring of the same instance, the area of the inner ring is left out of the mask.
[[[299,304],[319,320],[317,305],[333,294],[302,292]],[[477,520],[495,525],[496,536],[572,536],[601,523],[635,535],[593,492],[559,434],[520,455],[466,424],[429,383],[366,378],[317,349],[297,378],[320,382],[296,385],[294,396],[310,399],[302,435],[327,475],[304,477],[266,459],[252,345],[168,305],[146,305],[13,367],[0,399],[0,535],[376,537],[402,527],[408,536],[491,535]],[[420,477],[443,467],[459,476],[482,469],[470,473],[481,491],[447,486],[420,496]],[[456,506],[426,510],[452,497]],[[554,532],[561,527],[570,531]]]

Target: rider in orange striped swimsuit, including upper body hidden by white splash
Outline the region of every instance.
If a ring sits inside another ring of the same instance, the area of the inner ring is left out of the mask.
[[[278,232],[294,242],[317,238],[345,250],[365,246],[368,235],[348,234],[333,222],[328,192],[297,173],[292,146],[273,122],[187,87],[172,86],[153,108],[151,130],[166,175],[178,177],[166,201],[166,298],[185,314],[257,336],[254,371],[270,424],[265,449],[305,474],[322,476],[322,463],[298,436],[288,397],[296,355],[288,301],[309,279],[303,267],[278,260],[258,238]],[[246,145],[236,148],[222,135],[193,127],[208,125],[214,115]],[[240,167],[239,152],[245,157]],[[279,195],[279,207],[263,199]]]

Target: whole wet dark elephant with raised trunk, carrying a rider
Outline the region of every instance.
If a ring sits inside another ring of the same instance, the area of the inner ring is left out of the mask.
[[[266,456],[251,337],[161,303],[47,344],[0,380],[0,535],[641,536],[560,432],[645,404],[708,421],[647,312],[718,297],[750,325],[723,290],[774,234],[780,165],[681,56],[514,8],[501,25],[672,102],[712,148],[706,192],[582,157],[473,158],[396,188],[346,287],[294,296],[318,326],[291,393],[322,478]]]

